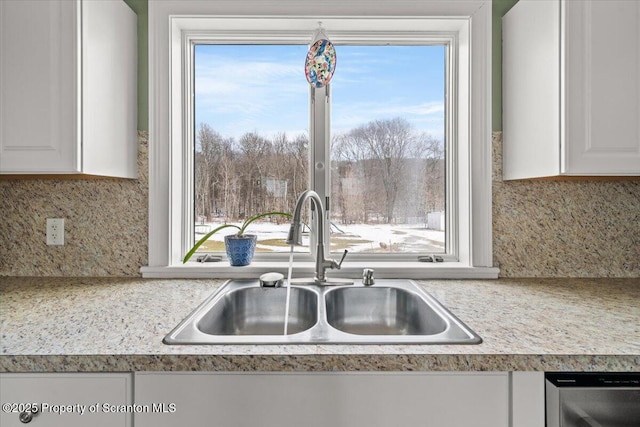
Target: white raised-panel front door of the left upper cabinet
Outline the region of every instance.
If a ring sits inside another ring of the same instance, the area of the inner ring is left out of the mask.
[[[0,1],[0,172],[77,172],[76,3]]]

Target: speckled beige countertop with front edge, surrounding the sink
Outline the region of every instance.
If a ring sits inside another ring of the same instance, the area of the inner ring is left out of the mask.
[[[0,372],[637,371],[640,279],[425,280],[480,345],[188,345],[223,280],[0,278]]]

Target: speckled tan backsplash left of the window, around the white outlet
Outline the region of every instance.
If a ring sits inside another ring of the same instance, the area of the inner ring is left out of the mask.
[[[138,276],[147,264],[148,134],[138,179],[0,180],[0,275]],[[47,246],[47,218],[65,218],[64,246]]]

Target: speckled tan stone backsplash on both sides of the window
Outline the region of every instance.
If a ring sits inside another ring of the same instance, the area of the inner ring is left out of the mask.
[[[137,180],[0,180],[0,275],[138,276],[147,264],[148,135]],[[503,277],[640,277],[640,181],[502,181],[493,135],[493,253]],[[65,218],[65,245],[45,244]]]

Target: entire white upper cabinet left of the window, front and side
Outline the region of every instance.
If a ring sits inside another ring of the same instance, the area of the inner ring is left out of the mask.
[[[136,15],[0,2],[0,173],[137,176]]]

